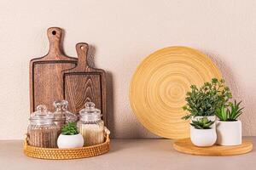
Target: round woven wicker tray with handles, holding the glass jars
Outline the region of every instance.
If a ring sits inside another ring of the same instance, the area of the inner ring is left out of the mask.
[[[105,129],[105,142],[102,144],[71,149],[34,147],[29,145],[27,143],[27,139],[25,139],[24,154],[30,157],[51,160],[79,159],[91,156],[99,156],[109,151],[109,134],[109,130]]]

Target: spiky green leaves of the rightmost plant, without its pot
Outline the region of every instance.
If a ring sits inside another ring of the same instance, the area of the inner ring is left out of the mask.
[[[216,111],[216,116],[218,116],[218,119],[220,121],[225,121],[225,122],[232,122],[232,121],[237,121],[237,117],[241,116],[242,110],[244,109],[243,107],[240,107],[241,101],[240,102],[235,102],[230,103],[229,106],[224,106],[222,105],[220,108],[217,109]]]

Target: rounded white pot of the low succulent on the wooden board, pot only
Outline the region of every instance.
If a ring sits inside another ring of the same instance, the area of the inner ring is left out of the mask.
[[[197,129],[190,127],[190,139],[193,144],[200,147],[212,146],[217,139],[216,129]]]

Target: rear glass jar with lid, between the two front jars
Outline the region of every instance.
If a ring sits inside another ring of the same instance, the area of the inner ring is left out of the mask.
[[[78,117],[70,111],[67,111],[67,100],[55,101],[54,106],[55,124],[58,127],[61,128],[64,124],[67,124],[68,122],[77,122]]]

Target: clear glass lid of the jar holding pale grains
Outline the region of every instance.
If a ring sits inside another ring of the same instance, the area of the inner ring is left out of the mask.
[[[98,121],[101,120],[101,110],[96,109],[95,104],[86,102],[85,108],[79,111],[81,120],[83,121]]]

